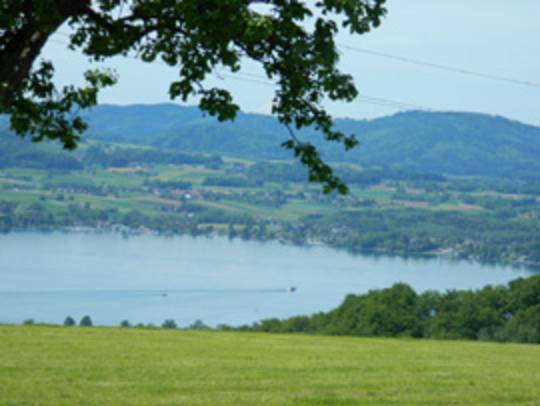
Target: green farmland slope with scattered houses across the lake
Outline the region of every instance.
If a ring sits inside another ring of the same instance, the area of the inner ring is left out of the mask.
[[[354,253],[540,264],[540,182],[341,165],[350,193],[325,195],[290,162],[153,149],[139,156],[139,148],[97,144],[92,150],[101,152],[70,170],[0,168],[0,232],[90,227],[226,235]],[[170,154],[178,162],[164,163]]]

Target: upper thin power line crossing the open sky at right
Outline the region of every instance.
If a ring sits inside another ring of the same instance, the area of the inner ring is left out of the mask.
[[[439,64],[439,63],[427,62],[427,61],[423,61],[423,60],[419,60],[419,59],[413,59],[413,58],[400,56],[400,55],[387,54],[387,53],[384,53],[384,52],[373,51],[371,49],[357,48],[357,47],[352,47],[350,45],[339,44],[339,43],[338,43],[338,47],[342,48],[342,49],[347,49],[347,50],[353,51],[353,52],[359,52],[359,53],[366,54],[366,55],[371,55],[371,56],[376,56],[376,57],[381,57],[381,58],[387,58],[387,59],[393,59],[393,60],[396,60],[396,61],[399,61],[399,62],[404,62],[404,63],[408,63],[408,64],[412,64],[412,65],[425,66],[427,68],[445,70],[445,71],[448,71],[448,72],[460,73],[462,75],[475,76],[475,77],[482,78],[482,79],[495,80],[495,81],[499,81],[499,82],[512,83],[512,84],[515,84],[515,85],[528,86],[528,87],[540,87],[540,83],[535,83],[535,82],[530,82],[530,81],[520,80],[520,79],[514,79],[514,78],[508,78],[508,77],[504,77],[504,76],[498,76],[498,75],[493,75],[493,74],[490,74],[490,73],[483,73],[483,72],[473,71],[473,70],[459,68],[459,67],[455,67],[455,66],[442,65],[442,64]]]

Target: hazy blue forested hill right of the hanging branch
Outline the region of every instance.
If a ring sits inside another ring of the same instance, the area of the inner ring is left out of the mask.
[[[540,128],[502,117],[409,112],[339,126],[358,134],[362,165],[540,178]]]

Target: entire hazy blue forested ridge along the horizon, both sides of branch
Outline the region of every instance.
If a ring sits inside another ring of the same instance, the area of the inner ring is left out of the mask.
[[[272,117],[240,114],[233,123],[172,104],[96,107],[90,134],[106,142],[146,144],[250,159],[288,159],[286,131]],[[331,161],[453,175],[540,177],[540,128],[474,113],[406,112],[375,120],[338,120],[361,145],[344,153],[310,131]]]

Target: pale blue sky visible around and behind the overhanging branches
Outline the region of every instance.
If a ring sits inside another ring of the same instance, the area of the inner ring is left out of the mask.
[[[375,97],[434,111],[501,115],[540,126],[539,0],[389,0],[387,8],[379,28],[362,36],[340,33],[338,44],[536,86],[432,69],[342,47],[340,68],[354,77],[364,99],[327,104],[335,117],[365,119],[408,109],[365,102],[365,97]],[[62,44],[67,41],[67,32],[61,28],[42,53],[55,63],[59,85],[81,83],[82,72],[89,67],[87,58]],[[170,101],[167,90],[177,78],[174,68],[123,57],[113,58],[105,66],[114,68],[120,81],[102,92],[100,103]],[[249,62],[243,72],[262,74]],[[213,76],[208,84],[229,89],[243,111],[269,114],[273,88],[247,78]]]

